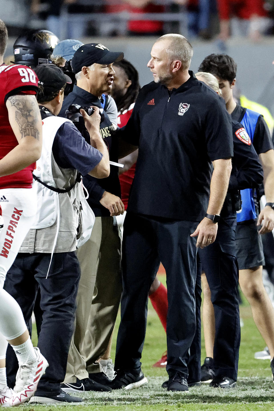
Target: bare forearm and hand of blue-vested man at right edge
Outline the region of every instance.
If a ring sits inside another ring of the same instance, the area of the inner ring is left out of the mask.
[[[267,203],[274,203],[274,150],[259,155],[264,172],[264,187]],[[260,234],[270,233],[274,228],[274,210],[268,205],[262,209],[257,225],[262,224]]]

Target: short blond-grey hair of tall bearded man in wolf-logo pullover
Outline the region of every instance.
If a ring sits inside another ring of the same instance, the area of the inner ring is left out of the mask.
[[[170,62],[180,60],[183,69],[189,69],[191,58],[193,56],[193,48],[188,39],[180,34],[165,34],[159,37],[156,42],[160,42],[161,40],[170,41],[170,44],[166,49]]]

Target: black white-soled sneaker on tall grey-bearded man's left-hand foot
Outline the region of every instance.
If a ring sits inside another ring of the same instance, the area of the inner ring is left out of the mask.
[[[115,372],[114,379],[111,381],[111,388],[113,390],[119,390],[120,388],[131,390],[132,388],[142,387],[145,384],[147,384],[147,379],[142,371],[118,369]]]

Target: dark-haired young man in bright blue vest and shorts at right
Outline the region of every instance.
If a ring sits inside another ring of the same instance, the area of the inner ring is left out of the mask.
[[[264,256],[259,234],[270,232],[274,227],[274,150],[269,129],[262,115],[245,109],[233,99],[236,70],[235,61],[226,54],[211,54],[199,67],[199,71],[210,72],[218,79],[228,112],[233,120],[240,122],[246,129],[262,164],[267,204],[258,213],[256,191],[241,190],[242,211],[237,213],[235,240],[239,284],[251,305],[256,326],[269,348],[273,374],[274,309],[262,283]],[[260,224],[262,227],[258,232],[257,226]]]

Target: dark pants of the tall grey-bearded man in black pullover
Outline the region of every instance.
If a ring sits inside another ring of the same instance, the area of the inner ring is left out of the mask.
[[[166,270],[168,290],[166,370],[187,378],[189,347],[196,330],[197,222],[149,218],[127,213],[122,247],[121,323],[115,369],[140,369],[145,340],[148,291],[159,263]]]

